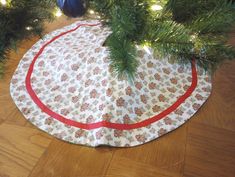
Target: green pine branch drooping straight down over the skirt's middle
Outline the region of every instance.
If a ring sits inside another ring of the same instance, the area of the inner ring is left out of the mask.
[[[106,43],[114,73],[133,80],[138,67],[134,41],[143,38],[148,4],[144,0],[105,0],[103,3],[93,0],[90,3],[110,20],[108,24],[113,33]]]

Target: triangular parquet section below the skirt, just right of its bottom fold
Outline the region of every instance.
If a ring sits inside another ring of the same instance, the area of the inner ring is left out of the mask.
[[[183,170],[186,136],[185,125],[143,146],[118,149],[114,156],[180,173]]]

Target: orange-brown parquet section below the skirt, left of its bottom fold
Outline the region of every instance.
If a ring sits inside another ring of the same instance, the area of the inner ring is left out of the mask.
[[[103,177],[114,150],[53,140],[29,177]]]

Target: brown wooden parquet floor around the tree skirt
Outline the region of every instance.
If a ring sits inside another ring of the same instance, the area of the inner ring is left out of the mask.
[[[61,18],[47,31],[71,22]],[[134,148],[89,148],[38,130],[10,97],[11,76],[37,40],[10,54],[0,80],[0,177],[235,177],[235,62],[215,73],[209,100],[176,131]]]

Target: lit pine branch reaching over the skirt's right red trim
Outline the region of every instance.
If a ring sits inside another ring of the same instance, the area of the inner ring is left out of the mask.
[[[179,63],[188,63],[194,58],[207,70],[213,70],[225,59],[235,58],[235,50],[225,45],[225,38],[198,35],[187,27],[169,20],[155,21],[145,38],[155,55],[170,57]]]

